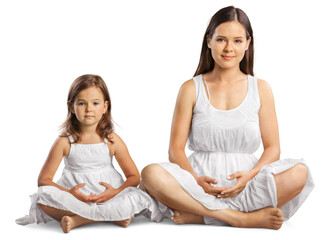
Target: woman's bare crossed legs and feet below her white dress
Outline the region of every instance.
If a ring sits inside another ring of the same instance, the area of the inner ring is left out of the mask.
[[[299,181],[297,181],[298,175],[303,176]],[[302,164],[275,175],[278,207],[283,206],[301,192],[306,176],[307,169]],[[279,229],[284,220],[282,211],[279,208],[264,208],[251,213],[243,213],[231,209],[209,210],[185,192],[175,178],[158,164],[151,164],[143,169],[142,181],[150,195],[174,209],[172,219],[177,224],[189,222],[203,223],[203,216],[207,216],[235,227]],[[284,181],[288,184],[284,184]]]

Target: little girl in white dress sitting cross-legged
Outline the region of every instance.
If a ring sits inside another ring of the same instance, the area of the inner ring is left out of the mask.
[[[68,116],[50,150],[31,196],[29,215],[16,223],[60,221],[63,232],[93,222],[128,227],[135,214],[160,221],[158,205],[142,190],[139,172],[122,139],[113,131],[111,100],[100,76],[83,75],[68,94]],[[126,181],[112,165],[113,156]],[[53,177],[64,158],[57,183]]]

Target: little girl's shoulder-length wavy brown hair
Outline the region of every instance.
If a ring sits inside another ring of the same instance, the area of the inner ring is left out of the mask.
[[[113,123],[111,117],[111,99],[109,91],[103,79],[98,75],[92,74],[82,75],[71,84],[67,99],[68,115],[65,122],[60,127],[62,131],[60,136],[71,135],[75,143],[81,140],[81,129],[79,127],[79,122],[76,115],[72,112],[72,109],[77,94],[82,90],[93,86],[101,89],[104,102],[108,102],[108,108],[97,124],[96,132],[101,138],[108,138],[108,140],[111,141],[109,139],[109,135],[113,132]]]

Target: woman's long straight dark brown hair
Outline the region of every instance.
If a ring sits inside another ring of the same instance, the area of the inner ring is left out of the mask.
[[[211,50],[208,48],[207,40],[211,39],[215,29],[222,23],[238,21],[243,25],[247,34],[247,40],[251,38],[249,48],[246,51],[242,61],[240,62],[240,70],[245,74],[254,75],[254,36],[248,16],[239,8],[233,6],[220,9],[211,18],[206,29],[203,45],[200,54],[200,60],[194,76],[207,73],[213,70],[215,61],[212,57]]]

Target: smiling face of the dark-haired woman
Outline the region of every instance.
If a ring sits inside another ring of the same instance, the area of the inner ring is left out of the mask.
[[[239,67],[249,47],[250,38],[246,39],[246,29],[238,21],[220,24],[207,41],[211,49],[215,67],[222,69]]]

